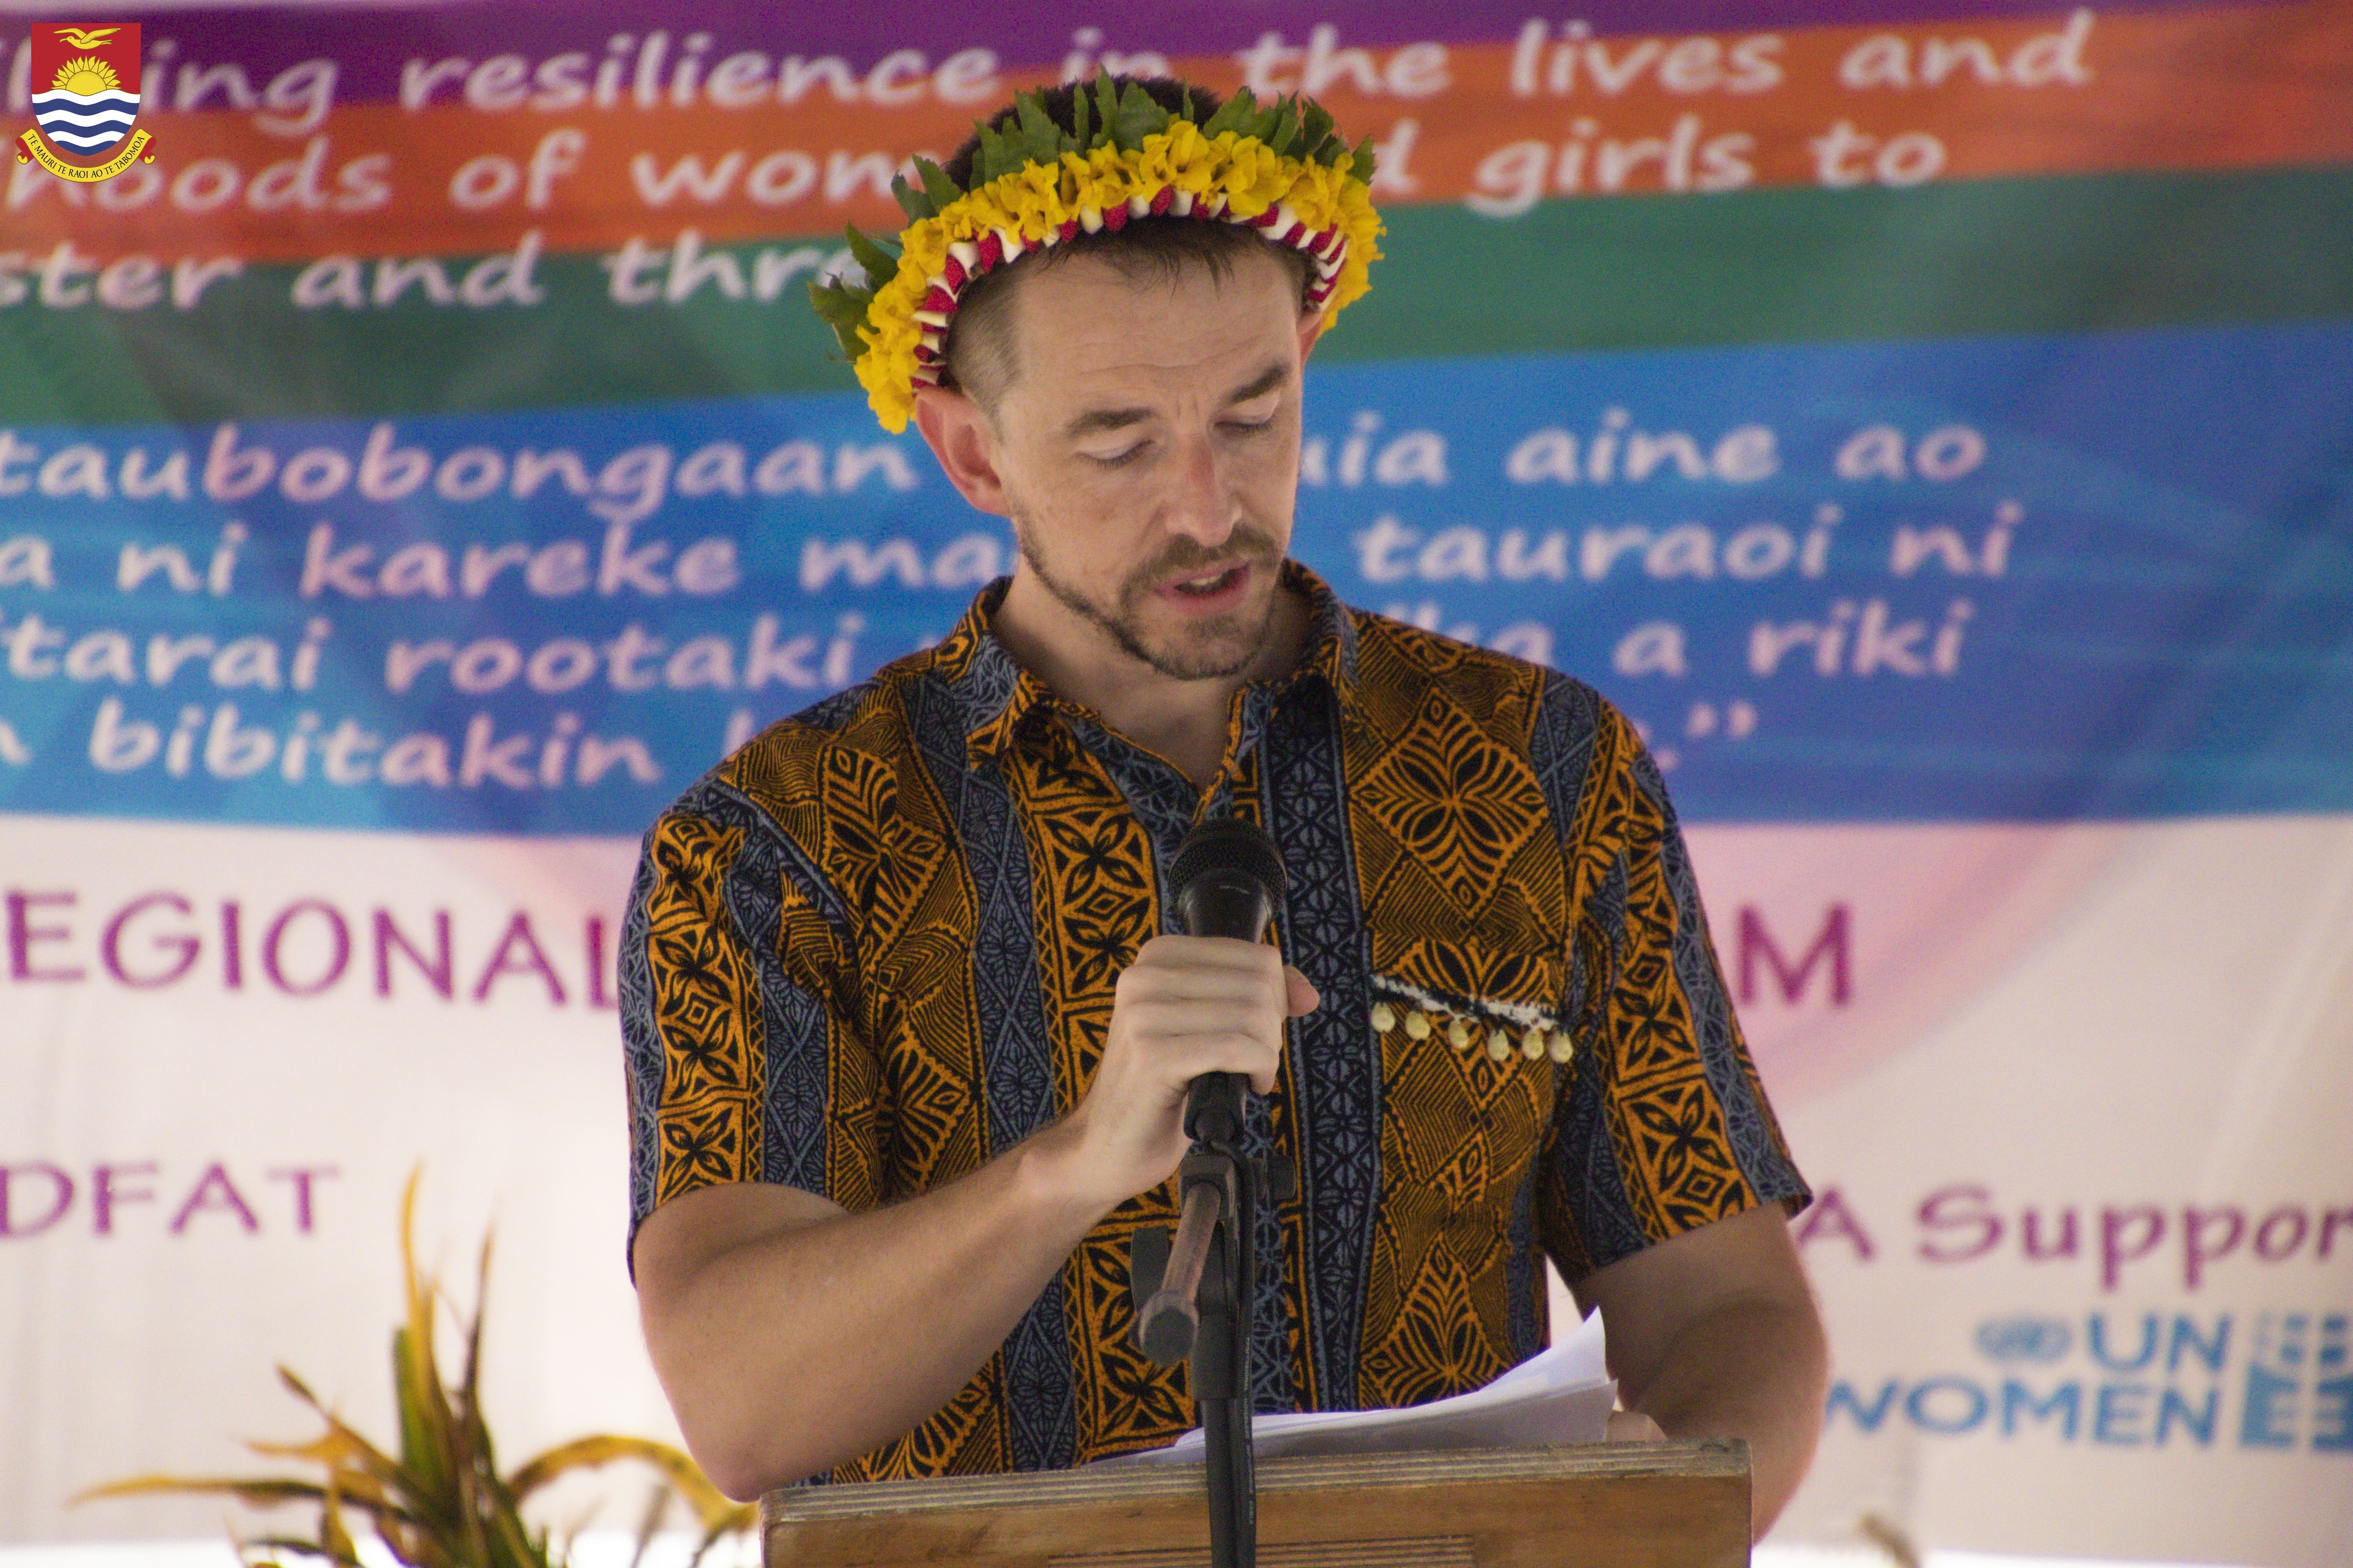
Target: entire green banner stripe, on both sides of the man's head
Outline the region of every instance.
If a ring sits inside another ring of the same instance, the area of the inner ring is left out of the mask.
[[[2353,315],[2353,169],[2005,179],[1395,207],[1374,292],[1325,355],[2049,334]],[[788,252],[776,240],[765,249]],[[760,244],[727,247],[751,282]],[[713,249],[715,254],[715,249]],[[473,259],[445,263],[452,284]],[[374,287],[372,266],[365,287]],[[299,310],[249,268],[195,310],[0,310],[0,423],[435,414],[852,390],[805,273],[619,306],[595,256],[541,256],[536,308]],[[659,277],[659,270],[652,273]],[[26,280],[31,287],[33,280]],[[87,289],[87,280],[80,284]]]

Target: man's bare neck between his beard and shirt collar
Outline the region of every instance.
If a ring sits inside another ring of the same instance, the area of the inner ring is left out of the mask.
[[[1235,675],[1174,679],[1122,649],[1104,628],[1075,616],[1031,574],[1016,574],[991,616],[1005,651],[1056,693],[1104,715],[1104,722],[1174,762],[1195,785],[1212,785],[1226,759],[1226,708],[1257,679],[1299,663],[1308,635],[1306,595],[1275,585],[1275,609],[1257,658]]]

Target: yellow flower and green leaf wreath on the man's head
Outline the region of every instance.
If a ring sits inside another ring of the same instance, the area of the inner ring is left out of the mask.
[[[1304,306],[1329,322],[1360,296],[1381,252],[1372,212],[1372,139],[1353,150],[1311,99],[1259,106],[1238,89],[1214,115],[1169,113],[1139,82],[1096,78],[1073,94],[1075,129],[1061,129],[1035,92],[1014,99],[1014,125],[979,127],[972,188],[915,160],[920,186],[892,181],[906,209],[899,254],[849,230],[866,287],[833,277],[809,284],[849,355],[885,430],[906,430],[915,390],[939,386],[948,322],[974,277],[1031,249],[1129,219],[1188,216],[1249,223],[1306,252]]]

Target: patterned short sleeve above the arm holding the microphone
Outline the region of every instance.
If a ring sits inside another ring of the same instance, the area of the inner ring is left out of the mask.
[[[619,950],[631,1237],[718,1182],[873,1204],[878,1074],[809,879],[718,783],[645,835]]]

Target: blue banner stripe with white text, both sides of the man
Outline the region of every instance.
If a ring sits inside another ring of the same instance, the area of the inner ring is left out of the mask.
[[[1687,820],[2353,809],[2348,322],[1308,381],[1294,552]],[[1014,559],[854,397],[7,440],[12,811],[635,835]]]

